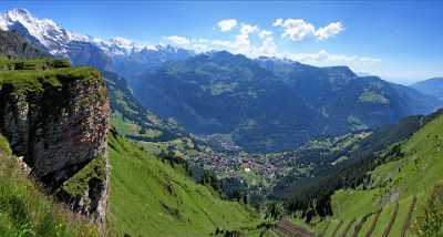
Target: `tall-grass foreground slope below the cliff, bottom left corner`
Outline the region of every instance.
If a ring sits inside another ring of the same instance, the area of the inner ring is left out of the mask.
[[[0,236],[99,236],[94,226],[44,196],[0,135]]]

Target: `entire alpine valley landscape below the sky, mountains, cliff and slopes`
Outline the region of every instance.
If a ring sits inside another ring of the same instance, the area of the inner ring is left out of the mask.
[[[442,236],[443,79],[0,13],[0,236]]]

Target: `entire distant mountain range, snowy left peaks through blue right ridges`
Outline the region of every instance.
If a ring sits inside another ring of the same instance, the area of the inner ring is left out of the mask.
[[[440,92],[359,76],[348,66],[102,40],[22,9],[1,13],[0,29],[14,30],[74,65],[124,75],[135,97],[162,117],[173,117],[197,135],[222,134],[212,137],[249,151],[291,150],[316,136],[395,123],[442,104],[435,97]]]

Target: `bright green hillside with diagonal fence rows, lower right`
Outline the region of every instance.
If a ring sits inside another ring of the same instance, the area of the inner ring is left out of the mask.
[[[341,176],[344,186],[331,192],[328,213],[311,209],[312,228],[323,236],[439,236],[442,128],[443,116],[435,114],[405,141],[378,152],[377,165],[361,182],[354,178],[350,181],[357,183],[347,185],[347,176]]]

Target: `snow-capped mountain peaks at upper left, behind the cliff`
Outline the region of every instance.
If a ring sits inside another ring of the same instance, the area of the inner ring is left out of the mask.
[[[32,43],[73,64],[93,65],[133,76],[168,60],[195,53],[171,45],[137,44],[125,38],[103,40],[69,31],[53,20],[37,18],[24,9],[0,13],[0,29],[16,30]]]

